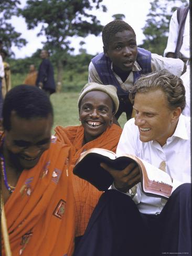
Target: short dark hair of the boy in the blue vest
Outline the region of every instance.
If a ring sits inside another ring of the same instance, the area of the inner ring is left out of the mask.
[[[103,46],[108,49],[109,44],[114,38],[114,35],[118,32],[122,32],[124,30],[129,30],[135,35],[134,29],[124,22],[121,19],[113,20],[112,22],[106,24],[102,30],[102,40],[103,40]],[[135,35],[136,36],[136,35]]]

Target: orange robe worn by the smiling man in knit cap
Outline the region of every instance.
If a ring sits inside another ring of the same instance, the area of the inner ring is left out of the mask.
[[[83,145],[84,128],[82,125],[68,127],[57,126],[55,131],[59,140],[70,145],[72,148],[72,156],[70,157],[71,172],[83,151],[87,151],[93,147],[100,147],[115,152],[122,133],[121,127],[113,124],[98,138]],[[103,192],[76,175],[73,175],[73,189],[76,204],[76,237],[78,237],[84,234],[93,209]]]

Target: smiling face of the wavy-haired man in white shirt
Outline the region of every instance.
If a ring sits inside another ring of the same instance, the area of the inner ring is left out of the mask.
[[[180,108],[170,110],[165,93],[160,89],[146,93],[137,92],[133,108],[136,112],[135,125],[140,132],[140,140],[157,141],[163,146],[175,131]]]

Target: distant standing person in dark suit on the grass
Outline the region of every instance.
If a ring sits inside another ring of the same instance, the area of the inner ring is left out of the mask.
[[[40,58],[42,59],[42,62],[38,69],[36,86],[50,95],[56,91],[54,68],[49,60],[49,53],[47,50],[41,50]]]

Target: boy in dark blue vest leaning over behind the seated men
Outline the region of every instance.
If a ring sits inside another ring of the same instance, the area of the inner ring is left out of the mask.
[[[103,52],[95,56],[89,65],[89,82],[112,84],[118,89],[120,106],[116,119],[125,112],[129,120],[132,104],[129,90],[141,74],[166,68],[180,77],[186,70],[182,60],[164,58],[137,48],[133,28],[123,20],[113,20],[102,31]]]

